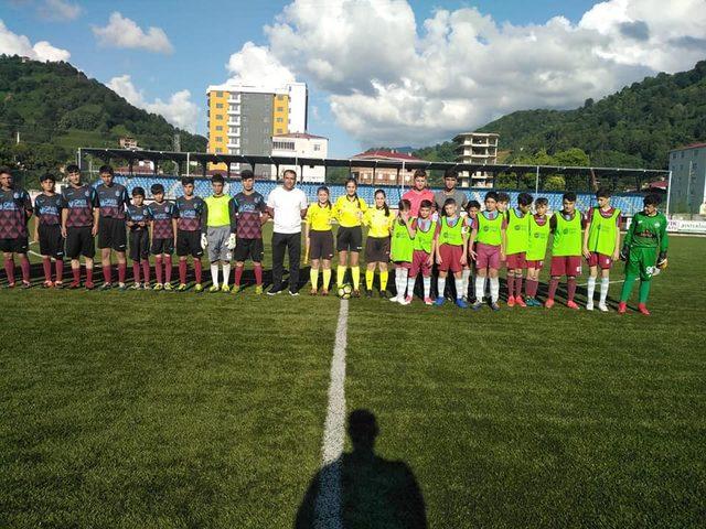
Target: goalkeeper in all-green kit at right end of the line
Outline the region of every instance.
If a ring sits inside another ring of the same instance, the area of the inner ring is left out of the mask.
[[[618,313],[624,314],[628,299],[638,277],[640,278],[640,299],[638,310],[650,315],[648,296],[652,276],[666,268],[666,217],[657,212],[660,198],[656,195],[644,197],[644,209],[632,217],[632,224],[620,251],[620,258],[625,261],[625,281],[620,293]],[[659,269],[659,270],[657,270]]]

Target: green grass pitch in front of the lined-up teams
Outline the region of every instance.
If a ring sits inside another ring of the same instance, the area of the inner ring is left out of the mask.
[[[651,317],[352,300],[344,527],[703,527],[706,239],[671,244]],[[339,310],[307,291],[0,291],[0,527],[295,527]]]

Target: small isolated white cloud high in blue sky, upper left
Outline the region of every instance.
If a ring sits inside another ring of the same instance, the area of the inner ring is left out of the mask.
[[[101,46],[147,50],[154,53],[172,53],[171,42],[161,28],[150,26],[145,32],[137,23],[115,11],[110,14],[108,25],[93,26],[93,33]]]

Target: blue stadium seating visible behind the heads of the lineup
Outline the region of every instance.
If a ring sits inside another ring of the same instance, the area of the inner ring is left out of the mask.
[[[128,192],[131,192],[133,187],[140,186],[145,188],[147,196],[150,196],[150,187],[152,184],[162,184],[164,186],[164,192],[168,198],[175,198],[181,195],[181,183],[178,176],[148,176],[148,175],[135,175],[128,176],[125,174],[116,174],[115,181],[125,185],[128,188]],[[100,181],[96,181],[94,185],[98,185]],[[272,181],[257,181],[255,184],[255,188],[261,193],[264,196],[267,196],[270,191],[272,191],[277,186],[277,182]],[[317,199],[317,190],[321,184],[314,183],[301,183],[298,184],[299,188],[301,188],[306,194],[309,201]],[[329,184],[329,191],[331,192],[331,201],[335,201],[339,196],[345,193],[345,187],[342,184]],[[235,195],[240,188],[239,182],[226,182],[225,191],[227,194]],[[382,188],[385,191],[387,195],[387,203],[392,206],[396,206],[399,199],[402,198],[402,194],[405,190],[400,190],[398,186],[392,185],[383,185],[379,187],[374,187],[370,185],[360,185],[359,186],[359,196],[363,198],[367,203],[372,203],[374,201],[375,190]],[[436,191],[436,190],[434,190]],[[472,201],[478,201],[481,204],[483,203],[483,195],[489,191],[486,188],[478,190],[478,188],[463,188],[463,191],[468,194],[469,198]],[[502,190],[510,195],[511,203],[515,204],[517,201],[517,195],[521,193],[520,191],[512,190]],[[211,182],[208,179],[196,177],[195,179],[195,194],[200,196],[208,196],[211,194]],[[532,193],[534,195],[534,193]],[[561,208],[561,192],[557,191],[542,191],[538,196],[546,196],[549,201],[549,210],[558,210]],[[577,193],[577,207],[579,210],[587,210],[591,205],[596,203],[595,196],[592,193]],[[616,207],[619,207],[623,215],[632,216],[637,212],[642,209],[642,197],[640,194],[616,194],[612,197],[612,204]]]

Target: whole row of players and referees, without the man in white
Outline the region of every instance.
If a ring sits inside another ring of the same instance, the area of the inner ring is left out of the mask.
[[[186,290],[186,258],[193,257],[195,290],[203,291],[201,257],[207,250],[211,261],[212,292],[229,292],[229,267],[235,252],[235,292],[240,289],[245,261],[254,263],[256,292],[263,292],[263,236],[261,226],[277,215],[276,208],[268,207],[268,201],[254,190],[252,173],[243,174],[243,191],[233,198],[223,193],[224,180],[220,175],[212,179],[213,195],[202,199],[194,195],[192,179],[183,179],[183,196],[175,203],[164,199],[160,184],[151,187],[153,202],[145,204],[145,191],[132,190],[132,202],[125,186],[114,182],[110,166],[99,170],[103,183],[96,188],[81,181],[77,166],[67,168],[69,185],[62,194],[54,192],[55,182],[51,175],[42,177],[42,193],[34,206],[25,191],[15,188],[10,171],[0,168],[0,246],[4,255],[6,272],[10,287],[14,283],[13,255],[19,255],[22,268],[22,284],[29,287],[28,220],[34,212],[38,222],[34,239],[40,244],[43,258],[45,287],[63,284],[64,255],[72,261],[73,281],[71,288],[81,287],[79,256],[86,268],[85,287],[94,288],[93,258],[94,237],[98,236],[101,250],[104,284],[111,288],[111,250],[118,261],[118,288],[126,289],[126,226],[130,233],[129,255],[132,260],[133,285],[149,288],[149,253],[154,256],[156,290],[172,290],[171,256],[174,247],[179,256],[180,284],[176,290]],[[291,191],[293,179],[284,188]],[[581,259],[588,260],[587,309],[593,309],[593,292],[597,277],[601,276],[599,309],[608,311],[606,299],[611,266],[620,257],[627,260],[625,281],[621,294],[619,312],[624,312],[625,302],[634,281],[640,278],[639,310],[648,313],[645,303],[650,280],[656,268],[666,266],[666,219],[656,209],[657,197],[645,197],[644,210],[639,213],[620,248],[620,210],[611,207],[610,193],[597,193],[598,207],[586,215],[576,210],[576,195],[566,193],[563,209],[547,217],[547,199],[537,198],[535,212],[531,212],[533,197],[521,193],[516,207],[509,207],[509,197],[489,192],[484,199],[484,210],[478,202],[468,203],[466,210],[449,197],[442,210],[436,212],[431,201],[421,199],[417,212],[413,204],[403,199],[398,213],[391,212],[385,193],[375,193],[375,204],[368,207],[356,193],[354,180],[346,183],[346,194],[335,204],[329,199],[329,191],[318,191],[315,204],[306,207],[301,215],[306,219],[306,260],[311,258],[311,293],[328,294],[331,281],[331,261],[334,255],[332,234],[333,220],[340,225],[335,249],[339,252],[336,280],[342,284],[346,266],[351,266],[353,295],[360,296],[359,253],[362,250],[362,226],[368,227],[365,257],[366,294],[372,295],[375,269],[379,270],[379,292],[386,296],[388,262],[392,260],[396,272],[396,295],[393,301],[409,304],[413,299],[417,277],[421,274],[424,302],[440,305],[445,302],[445,288],[449,272],[456,283],[456,303],[467,307],[466,293],[469,290],[471,271],[475,271],[473,309],[483,306],[485,281],[490,280],[490,305],[499,309],[499,272],[503,263],[507,269],[507,305],[538,306],[536,299],[538,276],[543,268],[549,240],[552,241],[552,263],[546,307],[554,305],[555,293],[561,277],[567,278],[567,306],[578,309],[575,302],[576,278],[581,273]],[[276,190],[277,191],[277,190]],[[302,194],[303,195],[303,194]],[[659,256],[657,256],[659,252]],[[291,258],[291,253],[290,253]],[[297,259],[298,260],[298,259]],[[52,279],[52,261],[55,263],[56,279]],[[223,282],[218,283],[218,263]],[[290,263],[291,264],[291,263]],[[436,300],[431,299],[431,269],[438,269]],[[525,279],[525,272],[526,279]],[[323,281],[319,290],[319,274]],[[525,282],[523,296],[523,282]],[[282,289],[275,285],[272,292]],[[297,293],[290,289],[290,293]]]

